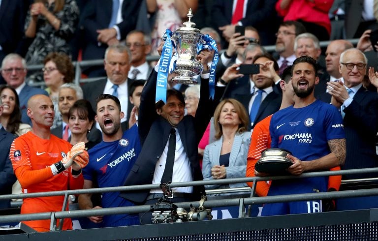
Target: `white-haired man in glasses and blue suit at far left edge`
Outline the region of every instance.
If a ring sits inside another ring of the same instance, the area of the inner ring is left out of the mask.
[[[40,88],[34,88],[26,84],[25,78],[28,70],[26,61],[18,54],[8,54],[1,63],[1,76],[7,85],[14,88],[20,99],[21,121],[23,123],[32,124],[32,121],[26,114],[27,103],[30,97],[35,94],[49,94]]]

